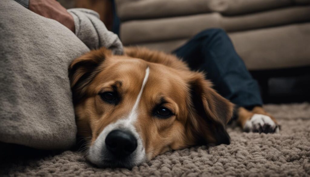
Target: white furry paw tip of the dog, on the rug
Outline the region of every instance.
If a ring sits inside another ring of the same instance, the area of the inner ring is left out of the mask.
[[[263,114],[254,114],[251,119],[248,120],[244,125],[244,131],[258,133],[278,133],[280,128],[269,116]]]

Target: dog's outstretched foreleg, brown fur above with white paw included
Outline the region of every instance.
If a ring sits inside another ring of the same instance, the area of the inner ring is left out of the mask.
[[[237,110],[237,122],[246,132],[278,133],[279,126],[274,117],[262,107],[256,106],[252,111],[243,107]]]

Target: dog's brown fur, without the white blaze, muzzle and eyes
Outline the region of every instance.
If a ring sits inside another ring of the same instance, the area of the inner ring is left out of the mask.
[[[129,47],[122,56],[105,48],[91,51],[69,67],[78,134],[89,137],[89,145],[104,127],[128,114],[146,67],[151,72],[139,106],[136,129],[148,159],[169,149],[230,143],[225,127],[232,117],[233,104],[212,89],[204,73],[190,71],[174,55]],[[104,103],[98,95],[111,89],[111,85],[123,95],[115,106]],[[165,96],[165,107],[175,113],[173,117],[160,119],[150,113],[161,101],[161,95]],[[262,113],[259,108],[255,111]],[[243,126],[252,113],[241,108],[239,115]]]

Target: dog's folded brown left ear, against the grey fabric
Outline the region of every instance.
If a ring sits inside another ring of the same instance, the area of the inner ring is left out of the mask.
[[[100,64],[110,55],[112,55],[112,51],[102,47],[73,60],[69,66],[73,103],[85,96],[87,85],[100,72]]]

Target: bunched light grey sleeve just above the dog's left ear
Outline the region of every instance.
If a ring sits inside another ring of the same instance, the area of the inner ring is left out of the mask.
[[[123,45],[118,36],[105,27],[95,11],[83,8],[68,9],[73,16],[75,35],[88,46],[89,49],[106,47],[114,54],[123,54]]]

